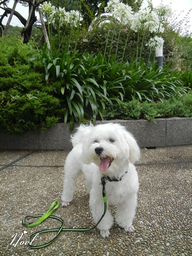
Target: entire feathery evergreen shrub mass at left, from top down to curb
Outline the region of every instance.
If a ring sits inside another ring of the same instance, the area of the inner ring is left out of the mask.
[[[42,63],[29,63],[34,50],[3,37],[0,52],[0,127],[11,134],[45,131],[62,120],[64,110],[55,89],[39,73],[44,71]]]

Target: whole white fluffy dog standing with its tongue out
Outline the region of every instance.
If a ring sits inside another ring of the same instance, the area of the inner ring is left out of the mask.
[[[90,207],[95,223],[103,214],[101,176],[105,177],[107,203],[116,205],[116,223],[127,232],[134,232],[132,222],[137,206],[138,175],[134,163],[140,150],[133,136],[124,126],[105,123],[80,125],[72,136],[73,150],[65,163],[65,177],[61,196],[62,206],[73,200],[75,179],[80,171],[86,176],[90,193]],[[102,238],[109,237],[113,216],[109,209],[98,224]]]

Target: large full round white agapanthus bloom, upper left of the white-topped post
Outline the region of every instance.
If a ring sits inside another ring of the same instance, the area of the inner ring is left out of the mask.
[[[144,9],[134,14],[131,29],[135,32],[148,29],[151,33],[159,31],[160,20],[156,12],[150,9]]]

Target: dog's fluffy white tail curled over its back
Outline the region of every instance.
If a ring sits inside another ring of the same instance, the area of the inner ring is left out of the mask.
[[[90,122],[89,125],[81,124],[77,131],[71,135],[71,142],[73,147],[79,143],[83,143],[84,140],[91,134],[94,125]]]

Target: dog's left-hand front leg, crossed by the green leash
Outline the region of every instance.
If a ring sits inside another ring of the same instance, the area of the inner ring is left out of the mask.
[[[97,188],[92,187],[90,191],[90,208],[92,212],[92,217],[94,223],[96,224],[104,212],[104,202],[102,198],[102,188],[99,186]],[[97,225],[100,230],[102,238],[108,238],[110,235],[110,228],[113,224],[113,216],[111,212],[106,209],[106,213],[102,218],[101,222]]]

